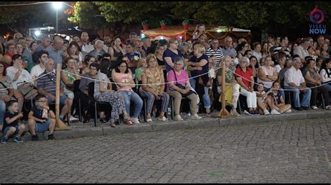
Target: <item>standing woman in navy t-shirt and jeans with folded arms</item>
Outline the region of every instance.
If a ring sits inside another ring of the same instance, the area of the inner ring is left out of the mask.
[[[186,65],[189,65],[188,69],[191,71],[192,79],[190,79],[190,83],[192,88],[198,92],[198,95],[203,95],[203,104],[205,105],[206,115],[209,116],[210,107],[212,105],[210,103],[208,89],[211,84],[207,85],[207,83],[210,83],[211,81],[209,81],[208,77],[209,66],[208,56],[205,55],[205,47],[203,45],[195,45],[194,55],[195,56],[191,57],[190,61],[186,63]],[[199,78],[201,78],[200,80],[202,80],[203,84],[198,82]]]

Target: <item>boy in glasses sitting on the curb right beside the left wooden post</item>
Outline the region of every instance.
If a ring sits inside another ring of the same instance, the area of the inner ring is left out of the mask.
[[[47,106],[47,99],[45,95],[37,95],[35,98],[35,105],[29,112],[29,131],[32,136],[32,140],[39,140],[36,133],[43,133],[47,130],[50,131],[48,134],[48,140],[54,140],[54,129],[55,129],[55,114],[50,107]]]

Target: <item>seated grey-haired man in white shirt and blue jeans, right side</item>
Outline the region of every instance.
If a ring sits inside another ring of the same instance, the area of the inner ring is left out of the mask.
[[[309,102],[311,96],[311,89],[307,88],[306,83],[304,81],[304,77],[302,76],[302,72],[300,67],[302,63],[300,58],[293,58],[293,66],[290,67],[285,72],[284,78],[284,89],[290,90],[293,93],[294,99],[294,108],[297,111],[303,111],[309,109]],[[300,102],[300,93],[303,93],[302,101]]]

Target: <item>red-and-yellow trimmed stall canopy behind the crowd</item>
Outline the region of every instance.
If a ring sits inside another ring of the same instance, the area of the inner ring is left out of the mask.
[[[192,33],[196,29],[196,25],[189,25],[189,30],[184,30],[183,26],[168,26],[167,29],[149,29],[142,30],[141,33],[146,37],[152,39],[166,39],[169,38],[181,38],[183,41],[191,39],[193,37]],[[142,36],[144,36],[142,35]],[[247,29],[238,29],[233,26],[206,26],[207,38],[217,38],[219,40],[226,38],[230,35],[233,38],[249,38],[251,39],[251,31]]]

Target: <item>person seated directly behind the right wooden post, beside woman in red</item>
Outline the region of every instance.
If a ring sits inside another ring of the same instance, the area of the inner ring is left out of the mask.
[[[239,89],[240,89],[240,85],[237,83],[237,81],[235,81],[235,74],[233,74],[234,71],[234,67],[233,65],[231,65],[232,61],[231,61],[231,57],[230,56],[224,56],[221,59],[221,64],[225,63],[225,67],[226,67],[226,84],[225,84],[225,94],[226,94],[226,103],[230,104],[230,106],[232,107],[230,110],[230,114],[232,115],[239,115],[239,113],[237,112],[237,102],[238,102],[238,98],[239,98]],[[220,68],[217,71],[217,81],[218,81],[218,85],[219,86],[223,86],[222,84],[222,69]],[[221,102],[221,97],[219,98],[219,102]]]

